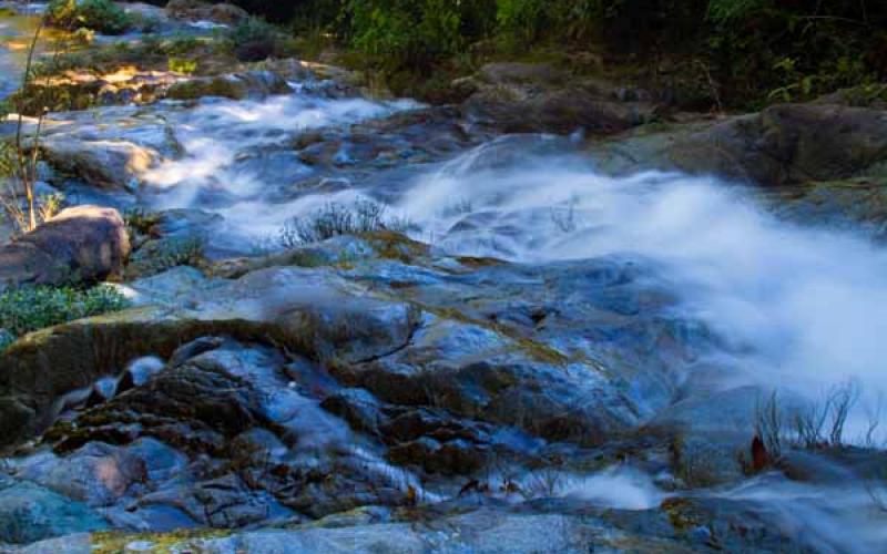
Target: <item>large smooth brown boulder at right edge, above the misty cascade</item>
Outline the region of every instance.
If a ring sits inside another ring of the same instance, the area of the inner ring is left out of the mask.
[[[785,185],[846,178],[887,160],[887,111],[836,104],[781,104],[758,114],[595,146],[602,167],[715,174]]]

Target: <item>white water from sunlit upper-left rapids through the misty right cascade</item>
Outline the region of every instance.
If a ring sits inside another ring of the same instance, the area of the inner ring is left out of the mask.
[[[237,163],[263,148],[284,151],[305,130],[415,106],[306,92],[204,102],[173,113],[186,156],[144,179],[155,207],[216,212],[225,218],[222,234],[247,242],[273,236],[288,218],[328,202],[366,195],[395,198],[392,211],[422,228],[419,238],[455,253],[526,263],[636,256],[680,294],[682,317],[704,321],[727,345],[714,361],[728,369],[731,384],[819,397],[854,379],[868,402],[887,391],[884,248],[846,232],[777,220],[745,191],[718,179],[608,177],[587,157],[558,154],[573,150],[564,140],[519,136],[442,165],[417,166],[398,174],[399,182],[385,182],[385,189],[361,188],[358,181],[336,193],[268,202],[269,191],[292,187],[312,167],[294,157],[281,183],[262,167]],[[347,158],[347,151],[336,156]],[[217,206],[207,203],[217,198]]]

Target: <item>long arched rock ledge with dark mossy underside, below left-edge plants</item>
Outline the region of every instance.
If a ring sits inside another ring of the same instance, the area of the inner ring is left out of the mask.
[[[328,270],[276,267],[195,291],[188,307],[136,308],[33,334],[0,359],[0,441],[43,429],[59,398],[119,375],[132,359],[166,358],[202,336],[271,339],[350,363],[400,348],[417,318],[408,304],[361,295]]]

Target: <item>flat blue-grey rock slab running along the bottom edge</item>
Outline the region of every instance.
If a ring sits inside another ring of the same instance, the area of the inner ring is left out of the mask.
[[[419,521],[383,519],[340,525],[302,525],[287,530],[237,532],[224,536],[155,536],[151,548],[163,541],[179,551],[225,552],[806,552],[792,543],[791,531],[765,517],[744,512],[748,504],[721,501],[700,506],[693,501],[674,502],[667,511],[608,511],[588,505],[536,503],[509,510],[487,506],[446,514],[420,511]],[[674,514],[674,520],[669,515]],[[728,523],[717,524],[713,515]],[[687,516],[686,523],[681,517]],[[113,541],[113,542],[112,542]],[[99,548],[121,548],[132,537],[96,537]],[[806,544],[810,544],[807,542]],[[52,543],[41,544],[49,547]]]

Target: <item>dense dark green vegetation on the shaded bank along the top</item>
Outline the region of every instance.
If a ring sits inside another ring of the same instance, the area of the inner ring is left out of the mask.
[[[887,74],[887,2],[871,0],[236,3],[302,32],[322,30],[388,73],[593,52],[684,103],[708,105],[808,99]]]

